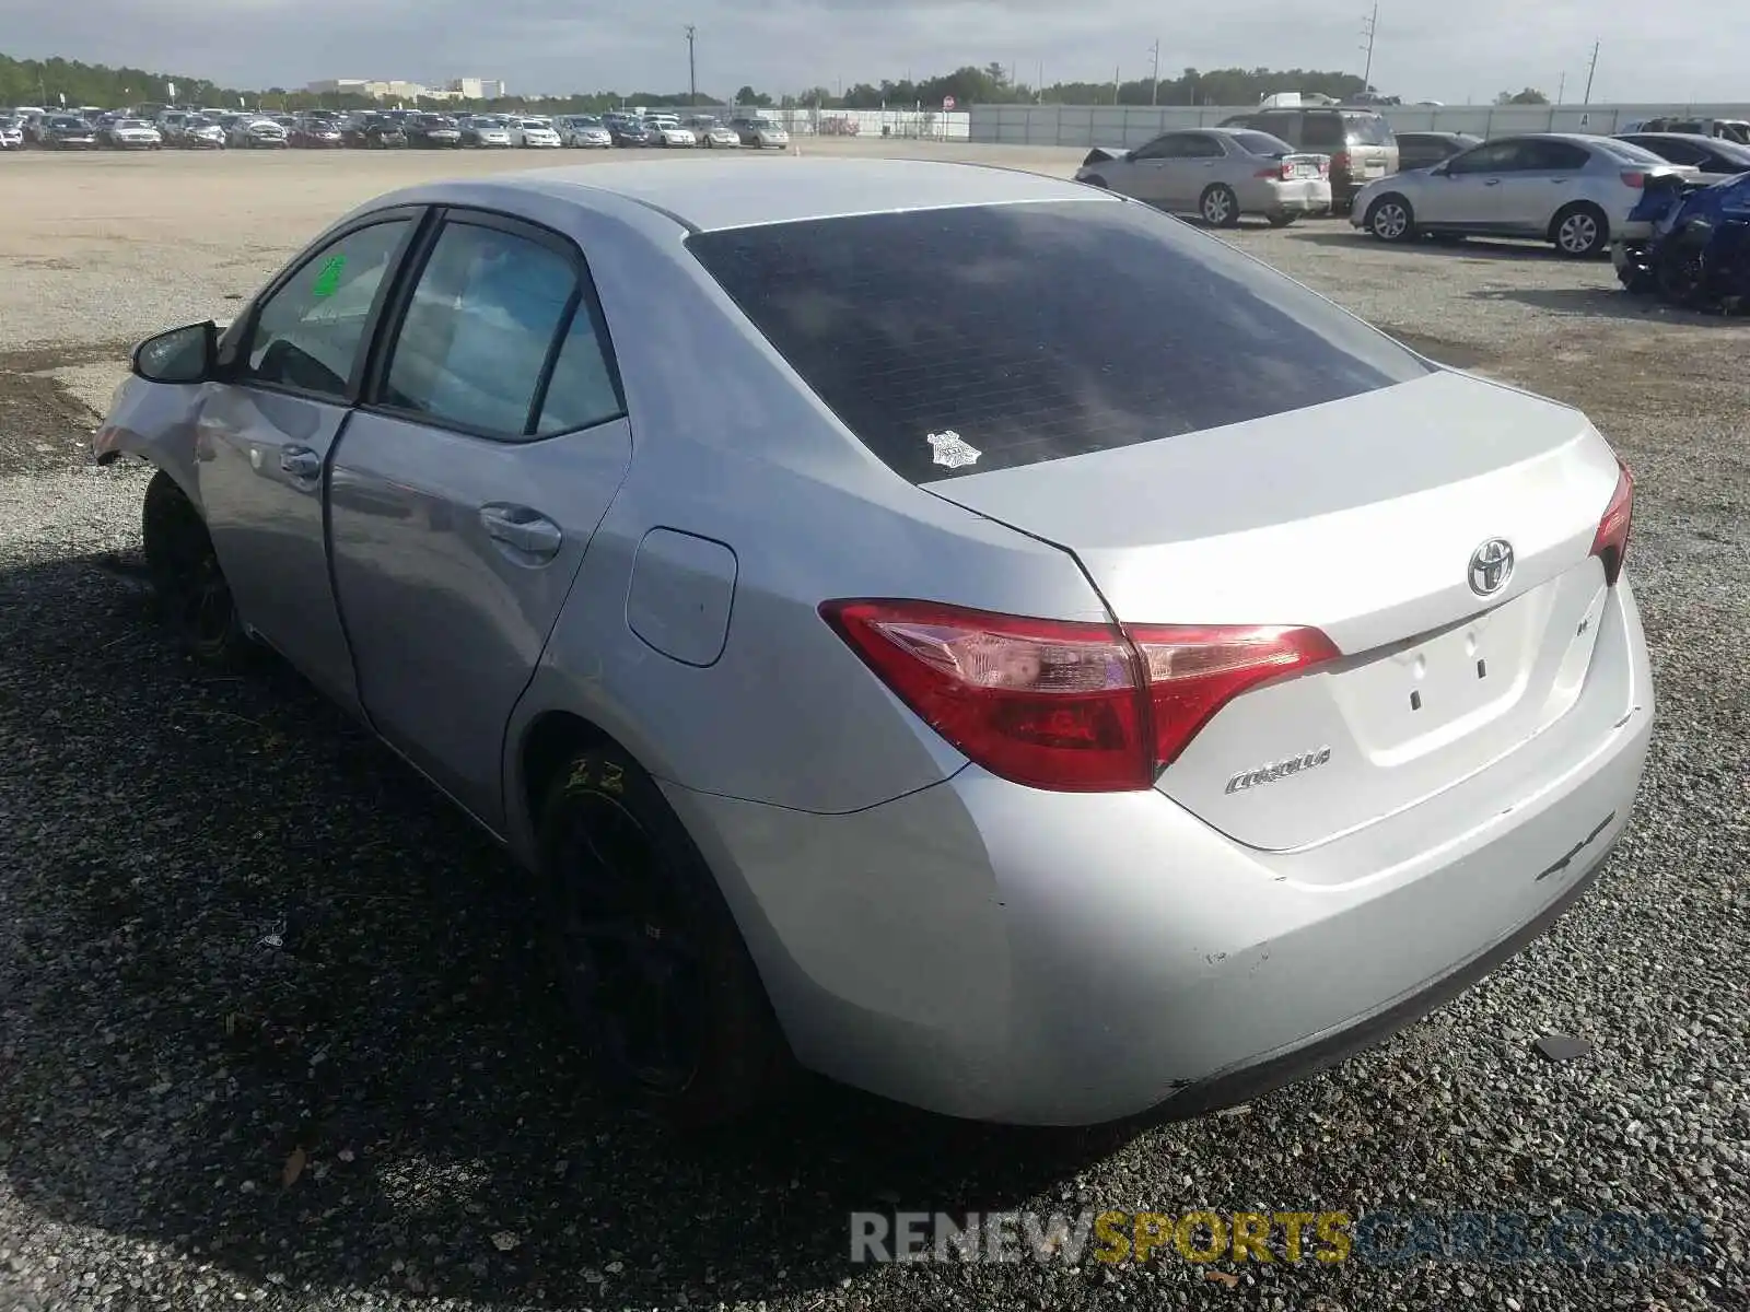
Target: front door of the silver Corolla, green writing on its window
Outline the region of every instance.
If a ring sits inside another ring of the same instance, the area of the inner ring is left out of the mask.
[[[220,345],[196,413],[196,479],[238,614],[312,682],[355,707],[329,588],[322,490],[366,348],[422,217],[382,210],[324,236]]]

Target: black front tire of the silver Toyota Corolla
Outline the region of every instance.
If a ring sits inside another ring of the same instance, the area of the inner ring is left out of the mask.
[[[215,668],[252,665],[261,649],[236,614],[206,523],[163,469],[145,485],[140,528],[152,591],[178,646]]]

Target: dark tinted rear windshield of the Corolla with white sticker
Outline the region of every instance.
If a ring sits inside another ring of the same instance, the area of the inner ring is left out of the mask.
[[[1430,371],[1144,205],[814,219],[702,233],[688,247],[845,427],[914,483],[1241,423]],[[976,460],[956,465],[959,444]]]

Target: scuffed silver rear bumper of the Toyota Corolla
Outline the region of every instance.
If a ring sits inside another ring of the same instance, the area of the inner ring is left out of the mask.
[[[976,1120],[1195,1113],[1386,1037],[1580,894],[1654,719],[1628,586],[1601,625],[1587,696],[1514,768],[1298,852],[975,766],[849,815],[668,794],[803,1065]]]

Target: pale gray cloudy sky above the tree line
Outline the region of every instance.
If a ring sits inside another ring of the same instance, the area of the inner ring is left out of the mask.
[[[1368,0],[1222,0],[1195,21],[1141,0],[0,0],[12,56],[180,70],[233,86],[320,77],[502,77],[513,91],[686,89],[686,23],[700,91],[761,91],[924,77],[992,59],[1032,82],[1146,77],[1185,66],[1362,72]],[[1353,10],[1353,14],[1351,14]],[[1183,10],[1181,10],[1183,12]],[[1656,17],[1654,17],[1656,14]],[[1384,0],[1374,84],[1461,105],[1535,86],[1578,101],[1603,40],[1592,100],[1750,100],[1750,5],[1720,0]]]

